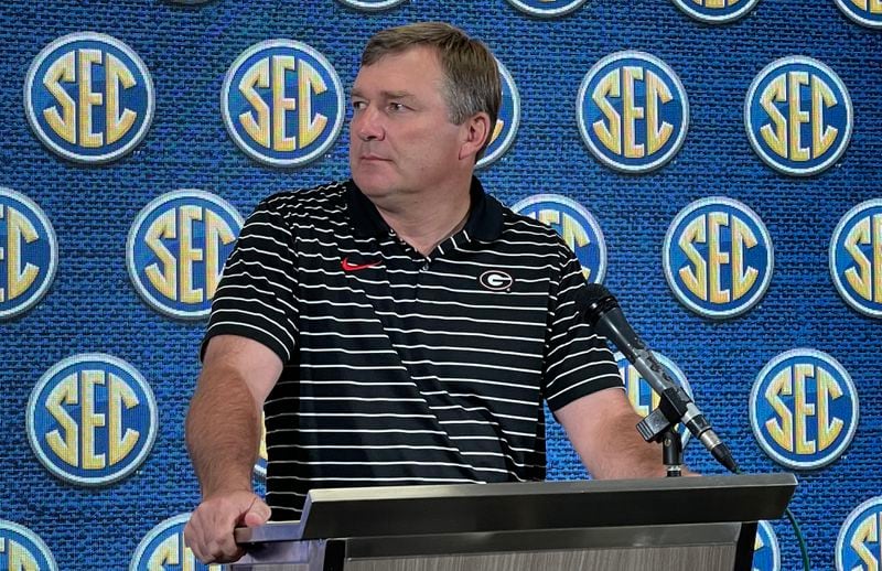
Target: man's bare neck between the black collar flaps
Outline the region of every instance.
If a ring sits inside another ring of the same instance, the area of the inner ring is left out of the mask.
[[[445,193],[409,195],[396,204],[377,201],[377,212],[398,236],[423,256],[465,226],[470,184]]]

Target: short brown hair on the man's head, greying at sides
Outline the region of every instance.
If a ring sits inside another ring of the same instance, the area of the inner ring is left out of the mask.
[[[477,153],[476,159],[480,158],[490,144],[502,105],[496,60],[486,45],[459,28],[443,22],[420,22],[377,32],[362,53],[362,66],[418,46],[432,47],[438,54],[447,79],[444,99],[454,125],[462,125],[481,111],[490,116],[490,133]]]

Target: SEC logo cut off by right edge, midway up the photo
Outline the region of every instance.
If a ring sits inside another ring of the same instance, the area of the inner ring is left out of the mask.
[[[830,240],[836,290],[857,311],[882,317],[882,198],[851,208]]]

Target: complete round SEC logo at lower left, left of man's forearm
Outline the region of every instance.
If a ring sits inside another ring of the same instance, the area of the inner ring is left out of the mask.
[[[72,484],[117,482],[157,438],[150,385],[125,360],[87,353],[49,369],[28,401],[28,439],[40,462]]]

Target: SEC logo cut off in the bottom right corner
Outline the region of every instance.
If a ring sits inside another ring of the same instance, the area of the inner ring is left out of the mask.
[[[882,565],[882,496],[856,507],[836,538],[837,571]]]

